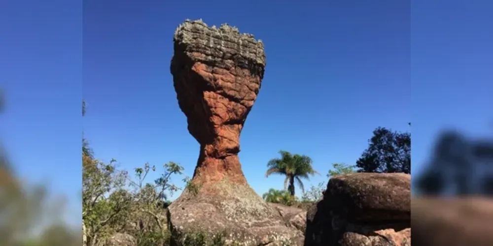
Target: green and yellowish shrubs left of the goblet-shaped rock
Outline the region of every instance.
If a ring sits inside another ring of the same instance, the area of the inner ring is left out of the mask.
[[[85,102],[82,102],[84,116]],[[135,178],[94,157],[82,137],[82,241],[83,246],[106,245],[113,236],[126,234],[139,246],[165,245],[169,239],[166,207],[169,195],[180,188],[171,183],[172,176],[183,175],[183,167],[174,162],[164,164],[164,172],[147,183],[155,166],[145,163],[134,169]],[[183,181],[189,184],[189,179]],[[80,241],[79,241],[80,244]]]

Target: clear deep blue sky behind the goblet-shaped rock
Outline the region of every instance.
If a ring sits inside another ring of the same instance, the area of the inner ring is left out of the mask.
[[[264,177],[279,150],[313,158],[321,175],[309,187],[326,181],[331,163],[353,164],[377,126],[407,131],[412,122],[416,173],[439,129],[493,130],[493,3],[457,2],[2,1],[1,136],[18,173],[67,195],[79,223],[82,127],[103,160],[126,169],[175,161],[191,176],[199,146],[169,66],[178,24],[202,18],[265,44],[240,153],[259,194],[282,188],[282,177]]]

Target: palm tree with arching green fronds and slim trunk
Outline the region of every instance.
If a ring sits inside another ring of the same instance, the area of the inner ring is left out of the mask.
[[[294,181],[300,186],[304,192],[303,182],[301,178],[309,180],[309,175],[318,174],[312,167],[312,159],[306,155],[291,154],[287,151],[279,151],[281,158],[274,158],[267,163],[267,172],[265,177],[271,174],[281,174],[286,176],[284,180],[284,189],[289,191],[289,194],[294,196]],[[289,184],[289,185],[288,185]]]

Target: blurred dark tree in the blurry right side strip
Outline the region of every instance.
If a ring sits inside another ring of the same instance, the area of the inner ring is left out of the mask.
[[[413,188],[423,195],[493,194],[493,175],[478,172],[493,163],[493,139],[470,139],[456,130],[442,132]]]

